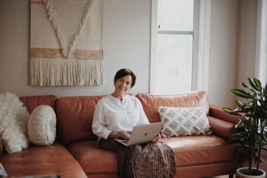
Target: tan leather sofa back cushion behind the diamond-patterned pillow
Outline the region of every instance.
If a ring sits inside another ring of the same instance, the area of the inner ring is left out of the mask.
[[[201,107],[205,108],[206,116],[209,115],[209,101],[207,93],[195,91],[182,95],[155,95],[137,94],[136,97],[141,101],[144,112],[150,123],[160,122],[158,107]]]

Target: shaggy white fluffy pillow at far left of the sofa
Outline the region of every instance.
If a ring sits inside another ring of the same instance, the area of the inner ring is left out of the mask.
[[[0,139],[7,152],[28,147],[27,123],[30,114],[15,94],[0,94]]]

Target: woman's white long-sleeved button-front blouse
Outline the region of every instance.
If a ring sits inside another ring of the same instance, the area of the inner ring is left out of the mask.
[[[121,103],[119,98],[108,95],[96,105],[92,130],[99,139],[107,139],[111,131],[132,131],[134,126],[144,124],[149,122],[139,99],[125,94]]]

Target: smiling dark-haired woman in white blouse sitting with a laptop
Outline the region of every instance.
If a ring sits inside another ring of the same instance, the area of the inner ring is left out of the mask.
[[[176,164],[171,148],[159,142],[127,147],[112,138],[129,139],[136,125],[149,124],[141,102],[126,93],[134,87],[136,75],[120,69],[114,77],[115,91],[98,101],[92,130],[98,136],[97,147],[117,152],[118,177],[174,177]]]

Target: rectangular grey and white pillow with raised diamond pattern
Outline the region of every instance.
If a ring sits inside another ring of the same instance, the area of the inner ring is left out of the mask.
[[[204,107],[158,107],[158,112],[164,138],[212,134]]]

